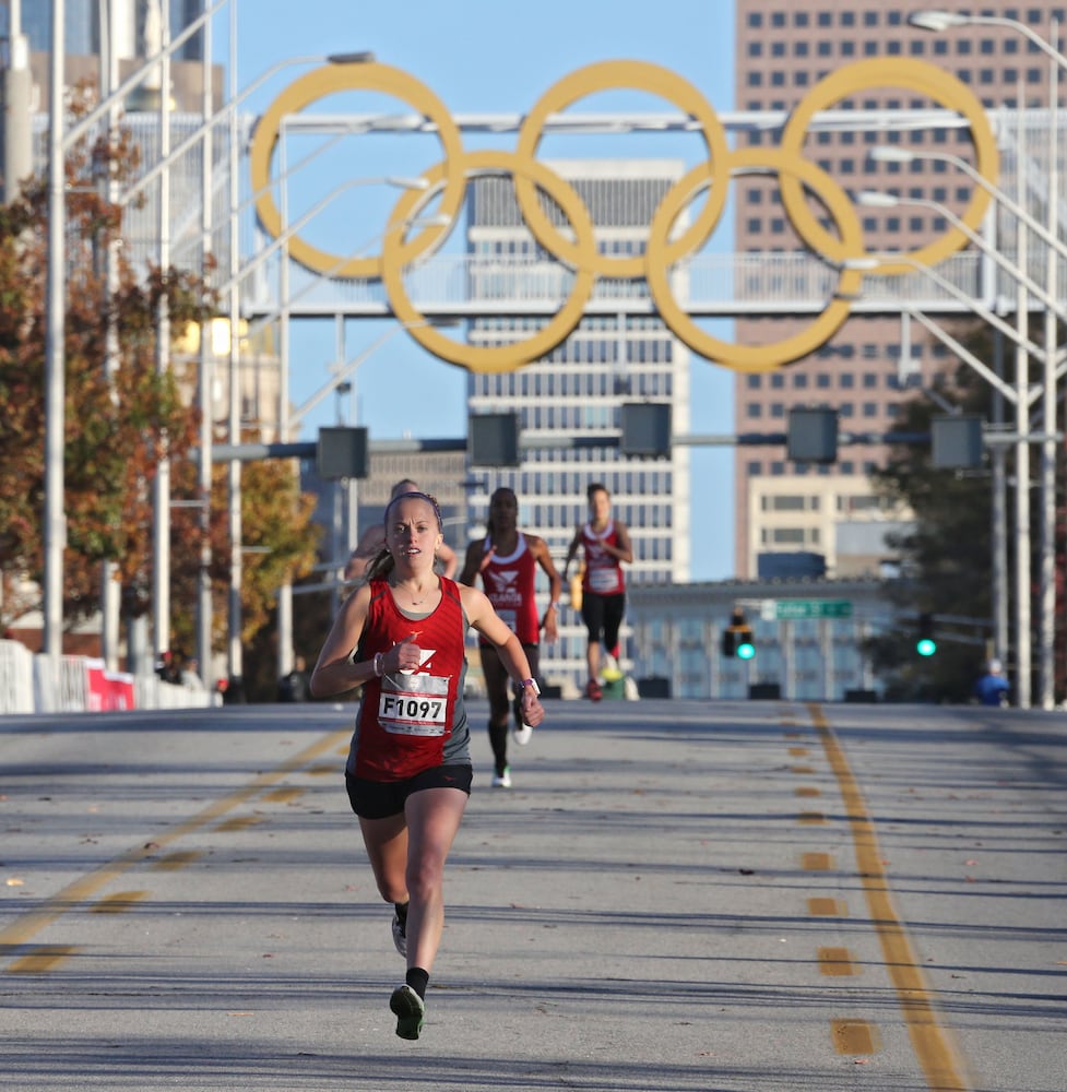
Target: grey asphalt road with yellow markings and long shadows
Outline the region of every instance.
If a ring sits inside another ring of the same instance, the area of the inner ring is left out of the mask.
[[[0,717],[0,1088],[1067,1088],[1067,717],[485,712],[417,1043],[351,708]]]

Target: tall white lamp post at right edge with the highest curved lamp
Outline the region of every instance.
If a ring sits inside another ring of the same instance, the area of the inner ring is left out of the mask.
[[[1062,247],[1058,245],[1058,204],[1059,204],[1059,170],[1058,170],[1058,73],[1067,71],[1067,56],[1058,48],[1059,27],[1057,20],[1050,24],[1052,40],[1044,38],[1032,26],[1007,15],[970,15],[941,10],[925,10],[913,12],[908,16],[909,23],[921,29],[940,33],[959,26],[1003,26],[1023,35],[1038,47],[1050,60],[1048,66],[1048,141],[1047,141],[1047,198],[1045,201],[1045,230],[1040,233],[1050,246],[1046,254],[1046,289],[1050,295],[1056,295],[1058,259]],[[1022,104],[1020,103],[1020,108]],[[1021,170],[1021,162],[1020,162]],[[1021,183],[1020,183],[1021,186]],[[1054,241],[1055,240],[1055,241]],[[1040,701],[1043,709],[1052,709],[1054,704],[1054,644],[1055,644],[1055,491],[1056,491],[1056,318],[1051,308],[1045,308],[1044,324],[1045,368],[1043,377],[1044,437],[1041,446],[1041,491],[1044,498],[1041,532],[1041,654],[1042,679],[1040,684]],[[1051,509],[1051,513],[1050,513]],[[1047,658],[1047,665],[1046,665]]]

